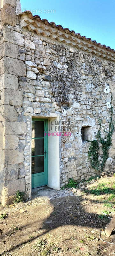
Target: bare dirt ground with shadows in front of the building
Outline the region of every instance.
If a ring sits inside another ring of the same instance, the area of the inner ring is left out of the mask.
[[[108,179],[109,184],[113,182],[113,177]],[[97,183],[98,180],[81,182],[77,190],[56,191],[46,187],[34,191],[27,202],[0,205],[0,214],[7,213],[7,218],[0,219],[0,255],[115,255],[115,245],[99,238],[100,230],[110,222],[107,217],[100,217],[107,209],[107,194],[100,197],[85,192]],[[20,209],[26,212],[20,213]],[[115,243],[113,237],[101,236]]]

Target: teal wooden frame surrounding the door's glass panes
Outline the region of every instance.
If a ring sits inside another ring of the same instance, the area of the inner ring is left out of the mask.
[[[44,131],[43,133],[47,132],[48,130],[48,119],[46,118],[34,118],[32,117],[32,120],[31,121],[44,121]],[[32,122],[31,122],[32,124]],[[47,130],[46,130],[47,129]],[[32,132],[32,125],[31,125],[31,132]],[[44,184],[42,184],[41,186],[37,186],[37,187],[34,187],[34,188],[38,188],[38,187],[42,187],[42,186],[45,186],[45,185],[48,185],[48,136],[44,136],[44,150],[46,149],[46,156],[44,155],[44,170],[45,170],[45,173],[44,173],[44,177],[45,177],[45,181]],[[31,140],[32,140],[32,137],[31,137]],[[31,147],[31,153],[32,153],[32,147]],[[32,156],[31,156],[31,163],[32,163]],[[42,172],[39,174],[40,175],[43,175]],[[32,187],[32,164],[31,164],[31,187]]]

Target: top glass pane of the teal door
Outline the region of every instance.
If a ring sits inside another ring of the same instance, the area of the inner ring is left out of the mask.
[[[32,121],[32,138],[44,137],[44,121]]]

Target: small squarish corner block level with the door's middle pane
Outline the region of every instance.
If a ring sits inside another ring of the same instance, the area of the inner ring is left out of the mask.
[[[16,135],[4,136],[4,149],[16,149],[18,148],[19,139]]]

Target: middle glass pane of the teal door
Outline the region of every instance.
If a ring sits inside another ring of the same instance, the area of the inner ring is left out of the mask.
[[[32,139],[32,156],[44,155],[44,139]]]

